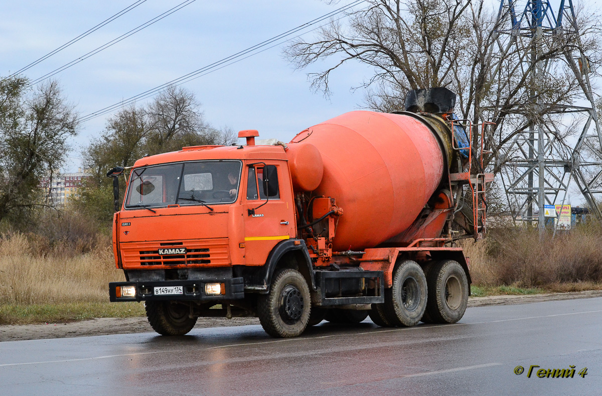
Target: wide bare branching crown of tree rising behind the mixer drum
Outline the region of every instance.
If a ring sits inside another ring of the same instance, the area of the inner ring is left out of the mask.
[[[356,88],[367,91],[366,104],[373,110],[403,109],[408,90],[448,87],[458,94],[458,116],[473,124],[495,123],[485,140],[493,155],[485,166],[494,172],[511,158],[504,151],[512,139],[529,128],[524,116],[545,118],[557,105],[571,104],[582,93],[571,65],[559,64],[539,81],[532,70],[540,61],[563,57],[581,42],[591,64],[600,59],[601,37],[597,16],[580,17],[579,29],[554,37],[542,37],[539,52],[524,59],[525,46],[533,45],[520,35],[506,34],[504,17],[488,11],[484,0],[367,0],[368,7],[349,11],[344,23],[333,20],[313,40],[298,39],[284,53],[298,69],[317,61],[332,62],[321,72],[308,74],[314,90],[330,94],[330,73],[351,61],[373,66],[374,73]],[[579,37],[576,37],[577,31]],[[542,103],[542,107],[525,106]],[[571,129],[559,138],[565,138]],[[476,143],[478,135],[473,135]]]

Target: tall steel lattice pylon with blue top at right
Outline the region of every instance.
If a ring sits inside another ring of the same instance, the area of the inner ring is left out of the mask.
[[[602,131],[598,128],[588,59],[577,29],[573,0],[560,0],[557,14],[547,0],[528,0],[520,14],[516,13],[515,1],[500,2],[496,49],[501,56],[509,51],[520,54],[521,70],[530,69],[529,97],[534,98],[521,104],[523,108],[517,111],[521,118],[518,125],[523,131],[515,135],[503,153],[498,153],[498,160],[504,164],[501,181],[514,220],[537,220],[541,230],[545,227],[544,205],[565,203],[573,181],[592,213],[602,218],[594,199],[595,193],[602,193],[600,188],[595,188],[602,181]],[[568,36],[576,37],[577,42],[567,46]],[[538,60],[544,52],[559,48],[562,51],[557,57]],[[540,97],[539,84],[544,84],[547,76],[556,72],[560,62],[574,73],[582,91],[580,102],[585,103],[585,107],[554,105],[535,99]],[[572,116],[580,116],[579,134],[574,143],[568,144],[560,138],[562,133],[556,125],[559,120],[566,123]]]

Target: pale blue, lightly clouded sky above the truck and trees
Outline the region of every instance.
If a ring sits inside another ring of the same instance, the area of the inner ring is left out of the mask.
[[[31,79],[39,78],[183,1],[146,0],[31,67],[25,75]],[[596,7],[594,0],[584,1]],[[0,2],[0,76],[19,70],[134,2]],[[54,78],[60,82],[69,101],[76,105],[76,111],[85,116],[222,60],[350,2],[352,0],[334,4],[321,0],[196,0]],[[557,10],[558,1],[551,3]],[[498,4],[491,0],[492,8],[497,10]],[[303,37],[309,39],[313,34],[310,31]],[[294,70],[284,58],[282,48],[283,45],[278,45],[267,49],[182,87],[196,94],[206,120],[212,125],[227,126],[234,131],[258,129],[261,138],[282,141],[289,141],[308,126],[364,107],[365,91],[352,88],[373,74],[371,67],[349,63],[336,70],[330,77],[332,95],[326,98],[321,92],[310,89],[306,73],[323,70],[326,64],[332,65],[332,61],[306,70]],[[102,133],[110,115],[81,125],[78,137],[71,142],[72,151],[63,168],[65,172],[77,170],[82,148]]]

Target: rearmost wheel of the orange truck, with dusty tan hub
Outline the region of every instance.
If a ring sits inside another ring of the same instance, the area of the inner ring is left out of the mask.
[[[430,268],[427,278],[427,312],[432,323],[456,323],[468,305],[468,279],[464,268],[453,260],[444,260]]]

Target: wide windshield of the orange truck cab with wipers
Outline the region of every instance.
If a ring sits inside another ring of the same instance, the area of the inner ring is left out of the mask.
[[[240,161],[180,162],[132,170],[125,208],[232,203]]]

